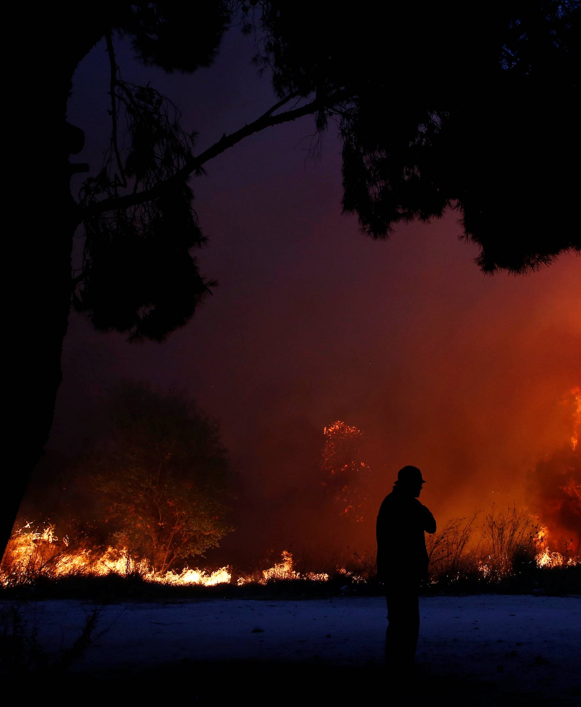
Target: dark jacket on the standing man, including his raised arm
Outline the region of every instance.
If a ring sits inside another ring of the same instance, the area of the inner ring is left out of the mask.
[[[436,532],[436,521],[426,506],[394,486],[381,504],[376,530],[379,580],[397,586],[427,578],[424,532]]]

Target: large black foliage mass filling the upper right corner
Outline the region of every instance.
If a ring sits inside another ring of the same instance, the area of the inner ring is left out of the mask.
[[[316,124],[337,117],[343,207],[365,233],[452,206],[485,272],[580,252],[578,1],[314,6],[308,21],[290,2],[263,7],[257,61],[278,95],[340,97]]]

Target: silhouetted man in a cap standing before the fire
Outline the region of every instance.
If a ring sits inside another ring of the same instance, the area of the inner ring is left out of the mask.
[[[388,600],[385,665],[398,670],[414,662],[419,584],[428,576],[424,531],[436,532],[433,515],[418,501],[425,483],[417,467],[400,469],[377,517],[377,573]]]

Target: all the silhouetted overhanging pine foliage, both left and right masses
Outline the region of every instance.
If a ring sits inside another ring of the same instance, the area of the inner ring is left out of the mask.
[[[354,13],[314,6],[306,22],[284,1],[210,3],[203,16],[154,3],[132,6],[116,30],[133,37],[145,64],[194,71],[212,62],[228,21],[241,23],[256,33],[254,60],[280,98],[251,132],[292,119],[292,108],[280,112],[291,102],[308,106],[302,115],[313,115],[318,140],[333,118],[343,208],[365,233],[387,238],[400,221],[452,207],[481,248],[481,269],[522,272],[581,248],[572,228],[577,183],[559,146],[574,115],[578,6],[513,1],[459,13],[450,4],[421,14],[399,4]],[[185,41],[188,20],[208,28],[203,41]],[[313,26],[325,28],[314,40]],[[194,156],[179,111],[150,86],[121,79],[112,31],[106,36],[112,141],[81,192],[85,263],[75,303],[99,329],[162,340],[214,284],[190,255],[204,239],[186,180],[229,141]],[[123,124],[125,150],[117,146]],[[124,189],[133,198],[117,202]]]

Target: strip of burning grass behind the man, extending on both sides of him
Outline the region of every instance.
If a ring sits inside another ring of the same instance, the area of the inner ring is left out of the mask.
[[[581,592],[581,563],[571,554],[551,551],[546,529],[534,525],[525,511],[495,508],[477,525],[477,516],[450,520],[428,537],[433,592]],[[56,536],[54,527],[16,532],[4,556],[0,581],[16,595],[98,597],[378,595],[372,556],[354,553],[309,570],[283,551],[280,561],[253,572],[232,567],[213,571],[182,568],[156,573],[145,560],[124,548],[104,550],[77,545]],[[312,566],[312,564],[311,564]]]

